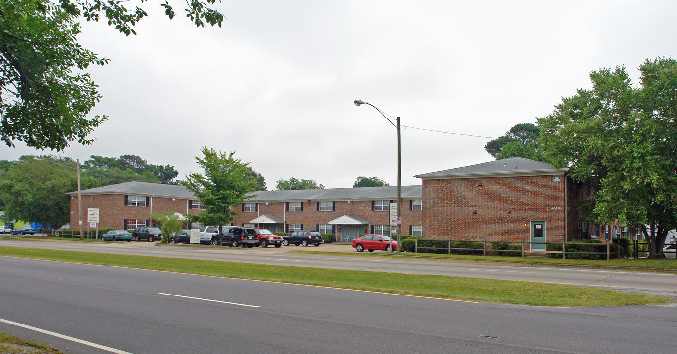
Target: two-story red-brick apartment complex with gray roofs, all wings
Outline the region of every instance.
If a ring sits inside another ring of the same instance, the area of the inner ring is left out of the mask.
[[[452,240],[562,242],[632,237],[617,225],[588,225],[579,203],[594,198],[568,169],[525,158],[508,158],[416,175],[422,185],[402,186],[402,234]],[[77,192],[71,196],[71,225],[77,227]],[[366,233],[391,234],[389,204],[397,187],[263,191],[236,206],[233,225],[291,232],[316,229],[349,242]],[[152,225],[150,215],[204,210],[178,185],[128,182],[82,191],[87,208],[100,209],[100,228]],[[534,245],[536,248],[543,245]]]

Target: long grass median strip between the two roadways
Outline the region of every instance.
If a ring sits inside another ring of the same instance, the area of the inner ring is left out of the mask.
[[[0,255],[515,305],[569,307],[661,305],[673,302],[664,296],[584,286],[444,275],[349,271],[6,246],[0,246]]]

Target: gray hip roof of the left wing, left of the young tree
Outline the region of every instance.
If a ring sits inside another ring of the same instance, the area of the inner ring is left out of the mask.
[[[77,196],[78,192],[67,193]],[[148,182],[126,182],[81,191],[83,195],[92,194],[134,194],[137,196],[162,196],[169,198],[195,199],[193,192],[183,185],[171,185]]]

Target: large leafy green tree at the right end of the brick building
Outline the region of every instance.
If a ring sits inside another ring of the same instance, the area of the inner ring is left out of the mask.
[[[677,62],[646,60],[640,87],[625,68],[590,74],[592,89],[540,118],[540,143],[555,167],[596,191],[597,223],[642,229],[651,257],[677,226]]]

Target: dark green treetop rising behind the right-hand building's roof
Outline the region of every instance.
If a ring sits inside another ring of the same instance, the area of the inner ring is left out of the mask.
[[[510,128],[509,131],[496,139],[488,141],[486,150],[496,160],[510,157],[531,158],[542,161],[542,154],[538,152],[538,136],[540,128],[531,123],[521,123]],[[505,152],[503,148],[508,146]]]

